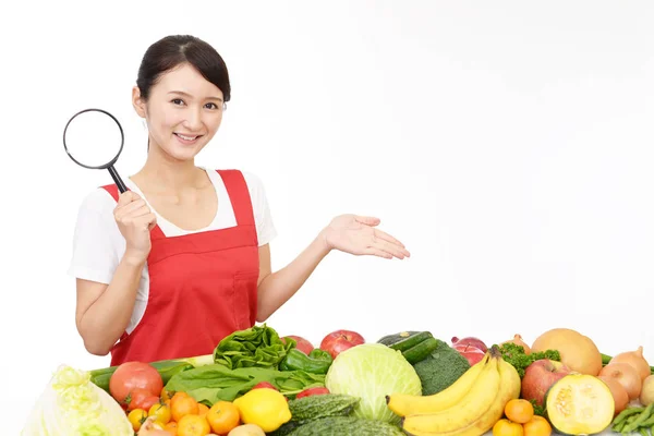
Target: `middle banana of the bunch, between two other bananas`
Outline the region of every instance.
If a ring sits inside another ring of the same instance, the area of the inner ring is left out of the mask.
[[[497,356],[491,356],[470,391],[458,403],[436,413],[405,416],[402,428],[412,435],[445,433],[463,428],[479,420],[496,401],[500,389],[498,361]]]

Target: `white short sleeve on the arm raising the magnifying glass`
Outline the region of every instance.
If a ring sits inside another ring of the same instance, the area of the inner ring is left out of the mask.
[[[68,274],[109,284],[120,262],[122,235],[116,220],[116,202],[104,189],[87,195],[77,211],[73,254]]]

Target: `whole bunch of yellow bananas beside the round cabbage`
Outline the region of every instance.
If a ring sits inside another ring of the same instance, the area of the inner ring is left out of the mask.
[[[505,405],[520,397],[520,376],[493,347],[447,389],[432,396],[393,393],[388,408],[414,436],[481,436],[493,428]]]

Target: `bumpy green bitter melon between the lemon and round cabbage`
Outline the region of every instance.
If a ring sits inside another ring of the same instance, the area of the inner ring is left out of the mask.
[[[295,428],[313,420],[330,416],[348,416],[359,403],[360,398],[344,393],[326,393],[304,397],[289,401],[291,420],[282,424],[269,436],[286,436]]]

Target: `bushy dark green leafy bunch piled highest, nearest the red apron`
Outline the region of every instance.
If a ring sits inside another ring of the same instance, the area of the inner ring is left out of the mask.
[[[223,338],[214,350],[214,362],[230,370],[240,367],[277,368],[279,362],[294,347],[294,340],[288,340],[284,343],[275,329],[264,324],[234,331]]]

